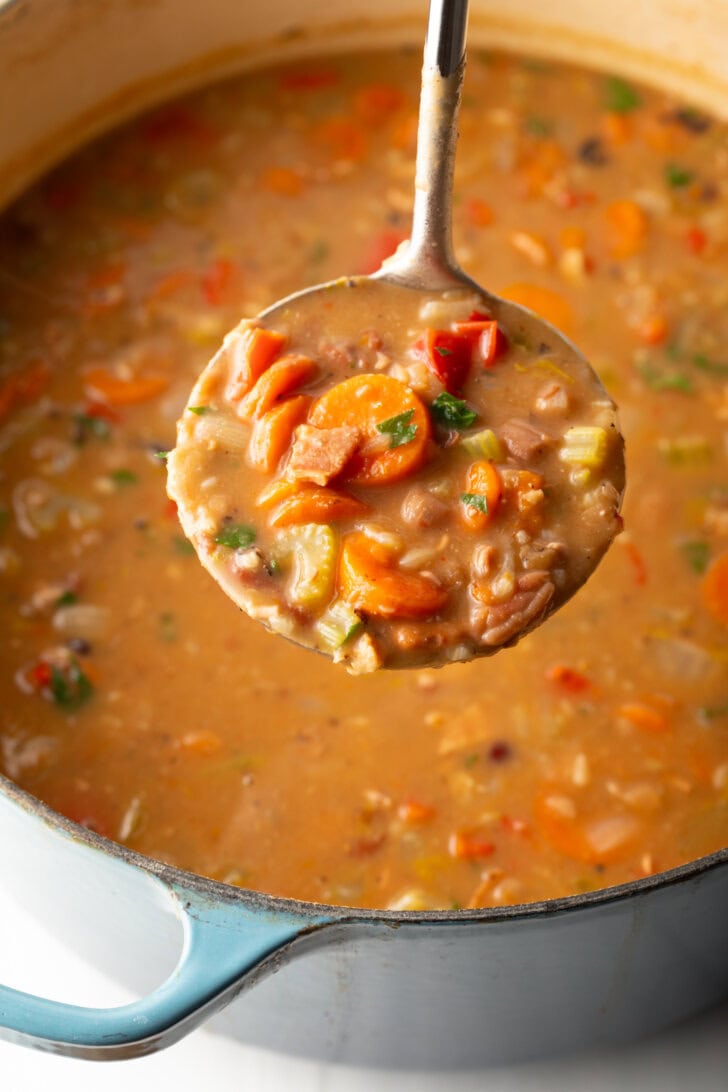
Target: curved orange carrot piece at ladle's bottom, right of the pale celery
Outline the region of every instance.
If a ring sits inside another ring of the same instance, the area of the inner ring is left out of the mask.
[[[361,532],[345,537],[338,559],[342,596],[381,618],[427,618],[447,601],[447,590],[428,577],[397,568],[381,544]]]

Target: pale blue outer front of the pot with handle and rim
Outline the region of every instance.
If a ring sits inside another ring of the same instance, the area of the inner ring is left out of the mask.
[[[140,993],[79,1008],[0,987],[2,1034],[126,1058],[218,1030],[357,1065],[475,1066],[622,1043],[728,997],[728,850],[658,877],[503,910],[394,913],[182,873],[0,779],[15,897]]]

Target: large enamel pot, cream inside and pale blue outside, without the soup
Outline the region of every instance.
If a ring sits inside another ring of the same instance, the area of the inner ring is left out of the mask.
[[[0,0],[0,201],[110,122],[204,79],[322,45],[417,40],[425,0],[394,17],[410,7],[268,0],[263,23],[239,0]],[[728,114],[725,0],[474,8],[481,41],[577,56]],[[0,778],[0,868],[29,913],[142,996],[87,1009],[0,987],[2,1034],[61,1054],[145,1054],[227,1006],[218,1030],[275,1049],[451,1067],[624,1042],[728,996],[728,850],[520,907],[357,911],[158,864]]]

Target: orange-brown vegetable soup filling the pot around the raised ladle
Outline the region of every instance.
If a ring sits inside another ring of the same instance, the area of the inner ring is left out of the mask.
[[[271,69],[163,107],[0,222],[0,739],[141,852],[276,894],[482,906],[728,841],[728,129],[474,54],[455,239],[621,410],[625,532],[515,649],[351,678],[242,617],[164,459],[241,316],[375,269],[410,215],[419,56]]]

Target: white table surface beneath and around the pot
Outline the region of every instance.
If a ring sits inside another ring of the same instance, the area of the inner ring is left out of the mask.
[[[728,927],[728,924],[727,924]],[[0,981],[88,1004],[131,999],[21,912],[0,890]],[[62,990],[61,990],[62,996]],[[0,1042],[0,1092],[728,1092],[728,1005],[636,1046],[477,1072],[330,1066],[242,1046],[204,1030],[160,1054],[91,1063]]]

